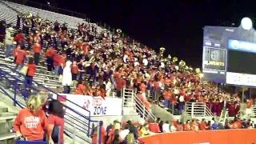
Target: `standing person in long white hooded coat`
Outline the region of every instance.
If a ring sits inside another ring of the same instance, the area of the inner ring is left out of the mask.
[[[68,60],[63,69],[62,86],[64,86],[64,94],[70,94],[70,86],[72,85],[71,65],[72,62]]]

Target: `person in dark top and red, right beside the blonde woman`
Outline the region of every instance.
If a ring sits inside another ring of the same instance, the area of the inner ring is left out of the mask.
[[[64,144],[64,109],[63,104],[61,102],[58,102],[58,100],[52,100],[49,103],[49,116],[48,121],[50,124],[50,128],[53,130],[54,126],[58,126],[59,129],[59,138],[55,139],[53,138],[54,142],[58,142],[58,144]],[[56,134],[52,134],[56,135]],[[59,140],[59,141],[58,141]]]

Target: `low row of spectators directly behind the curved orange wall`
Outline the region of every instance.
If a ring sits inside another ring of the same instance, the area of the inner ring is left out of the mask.
[[[233,120],[226,122],[217,122],[214,118],[206,122],[205,118],[202,121],[198,119],[187,120],[186,122],[178,122],[173,120],[172,122],[162,122],[158,118],[155,122],[146,122],[144,124],[139,122],[118,122],[114,121],[109,126],[105,127],[102,123],[102,143],[131,143],[134,144],[138,141],[139,137],[144,137],[152,134],[170,133],[176,131],[197,131],[197,130],[227,130],[227,129],[253,129],[255,123],[250,119],[241,119],[235,116]],[[93,131],[93,143],[96,143],[97,130]]]

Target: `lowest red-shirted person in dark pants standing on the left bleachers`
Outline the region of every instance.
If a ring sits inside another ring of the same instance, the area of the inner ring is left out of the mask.
[[[30,87],[32,86],[33,82],[33,77],[36,72],[36,66],[34,64],[34,59],[30,58],[29,62],[26,64],[28,66],[27,72],[26,72],[26,77],[25,77],[25,87]]]

